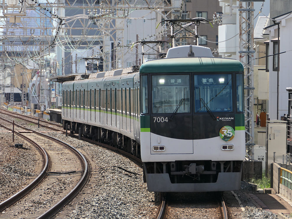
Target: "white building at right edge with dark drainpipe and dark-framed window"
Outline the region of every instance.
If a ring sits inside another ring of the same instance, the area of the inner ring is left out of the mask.
[[[288,16],[287,16],[288,15]],[[292,14],[291,12],[280,15],[274,19],[280,22],[280,68],[279,68],[279,119],[288,113],[288,92],[287,87],[292,86]],[[273,23],[273,22],[271,22]],[[277,46],[278,46],[278,25],[272,24],[265,28],[270,32],[268,51],[269,57],[269,117],[277,119]]]

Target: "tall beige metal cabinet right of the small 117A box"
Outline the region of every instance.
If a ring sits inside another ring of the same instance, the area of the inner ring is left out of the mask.
[[[283,154],[287,154],[287,121],[282,120],[270,120],[267,121],[267,135],[266,135],[266,145],[267,145],[267,169],[266,173],[270,176],[271,163],[283,162]]]

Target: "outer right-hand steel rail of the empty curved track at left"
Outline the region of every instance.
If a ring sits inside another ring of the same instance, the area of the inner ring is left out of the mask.
[[[7,119],[4,119],[4,118],[1,118],[1,119],[5,120],[5,121],[8,121],[8,122],[11,122],[11,121],[9,121]],[[50,208],[44,214],[39,216],[37,219],[48,218],[49,216],[54,214],[56,211],[58,211],[64,204],[66,204],[66,202],[69,201],[76,194],[76,192],[78,192],[79,189],[82,187],[82,185],[86,181],[86,178],[87,178],[87,175],[88,175],[88,163],[87,163],[86,158],[84,157],[84,155],[81,152],[79,152],[79,150],[77,150],[72,145],[69,145],[66,142],[63,142],[63,141],[61,141],[61,140],[59,140],[57,138],[54,138],[54,137],[49,136],[49,135],[46,135],[44,133],[40,133],[38,131],[34,131],[34,130],[29,129],[29,128],[23,127],[23,126],[21,126],[19,124],[15,124],[15,125],[20,127],[20,128],[26,129],[28,131],[33,131],[34,133],[42,135],[42,136],[44,136],[44,137],[46,137],[48,139],[54,140],[55,142],[58,142],[58,143],[60,143],[60,144],[62,144],[64,146],[66,146],[67,148],[69,148],[72,152],[74,152],[77,155],[77,157],[79,158],[80,161],[83,162],[83,164],[81,162],[81,165],[84,167],[84,172],[83,172],[83,175],[82,175],[81,179],[77,183],[77,185],[61,201],[59,201],[57,204],[55,204],[52,208]]]

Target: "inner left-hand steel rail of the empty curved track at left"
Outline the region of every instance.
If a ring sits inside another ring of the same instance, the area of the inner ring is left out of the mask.
[[[0,119],[7,121],[4,118]],[[1,124],[2,127],[12,131],[12,129],[4,126],[3,124]],[[33,140],[27,138],[25,135],[22,135],[21,133],[14,131],[17,135],[21,136],[22,138],[24,138],[25,140],[27,140],[28,142],[30,142],[32,145],[35,145],[35,147],[38,148],[42,158],[43,158],[43,168],[41,173],[39,173],[39,175],[29,184],[27,185],[25,188],[23,188],[22,190],[20,190],[19,192],[17,192],[16,194],[14,194],[13,196],[11,196],[10,198],[6,199],[5,201],[0,203],[0,209],[3,209],[5,207],[7,207],[8,205],[10,205],[11,203],[13,203],[16,199],[19,199],[20,197],[22,197],[23,195],[25,195],[27,192],[29,192],[35,185],[37,185],[39,183],[40,180],[42,180],[44,178],[44,176],[46,175],[46,171],[48,169],[48,154],[47,152],[44,150],[43,147],[41,147],[39,144],[37,144],[36,142],[34,142]]]

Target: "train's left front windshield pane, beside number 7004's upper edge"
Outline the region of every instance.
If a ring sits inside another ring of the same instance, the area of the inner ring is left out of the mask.
[[[176,107],[178,107],[176,109]],[[153,113],[190,112],[190,75],[153,75]]]

